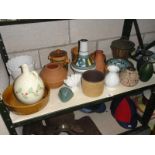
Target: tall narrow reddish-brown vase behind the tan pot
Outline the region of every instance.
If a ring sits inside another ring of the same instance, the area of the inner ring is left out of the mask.
[[[106,56],[102,50],[95,51],[96,70],[106,72]]]

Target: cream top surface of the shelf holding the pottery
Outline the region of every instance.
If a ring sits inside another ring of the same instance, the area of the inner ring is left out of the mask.
[[[20,121],[29,120],[32,118],[47,115],[47,114],[57,112],[57,111],[63,111],[67,108],[76,107],[78,105],[83,105],[85,103],[96,101],[99,99],[104,99],[106,97],[112,97],[114,95],[125,93],[125,92],[131,91],[131,90],[136,90],[136,89],[139,89],[139,88],[142,88],[145,86],[151,86],[153,84],[155,84],[155,75],[153,75],[152,78],[148,82],[139,81],[139,83],[134,87],[125,87],[122,84],[119,84],[117,87],[115,87],[113,89],[109,89],[106,86],[104,86],[104,91],[99,97],[85,96],[82,92],[81,86],[79,86],[79,88],[75,92],[73,98],[65,103],[61,102],[61,100],[58,97],[58,92],[59,92],[60,88],[51,89],[49,101],[48,101],[46,107],[44,107],[42,110],[40,110],[39,112],[36,112],[34,114],[30,114],[30,115],[17,115],[13,112],[10,112],[10,117],[11,117],[13,123],[18,123]]]

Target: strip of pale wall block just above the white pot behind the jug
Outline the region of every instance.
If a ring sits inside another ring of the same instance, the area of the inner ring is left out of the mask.
[[[35,69],[39,69],[40,66],[40,59],[39,59],[39,54],[37,50],[32,50],[32,51],[21,51],[17,53],[9,53],[9,58],[20,56],[20,55],[30,55],[33,57],[35,61]]]

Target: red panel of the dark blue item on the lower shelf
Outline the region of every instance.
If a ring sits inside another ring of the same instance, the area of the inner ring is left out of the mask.
[[[114,117],[117,121],[130,123],[131,120],[131,110],[128,101],[124,98],[119,106],[116,108]]]

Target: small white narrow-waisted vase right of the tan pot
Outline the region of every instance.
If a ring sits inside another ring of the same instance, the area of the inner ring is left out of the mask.
[[[115,65],[110,65],[107,67],[108,69],[108,73],[105,76],[105,85],[107,87],[115,87],[120,83],[120,79],[119,79],[119,67],[115,66]]]

